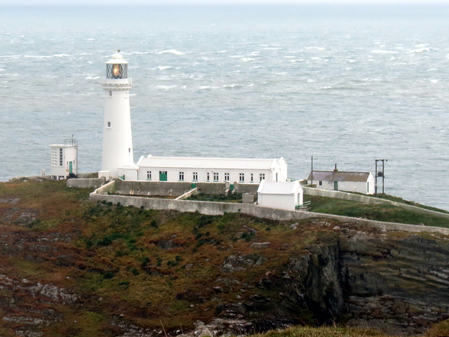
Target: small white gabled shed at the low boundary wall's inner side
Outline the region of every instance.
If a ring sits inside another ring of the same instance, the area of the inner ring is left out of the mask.
[[[257,189],[257,204],[272,209],[295,211],[302,205],[303,191],[299,181],[276,182],[262,180]]]

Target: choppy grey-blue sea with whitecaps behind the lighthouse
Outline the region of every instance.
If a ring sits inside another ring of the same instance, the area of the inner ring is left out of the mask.
[[[105,62],[133,79],[142,155],[284,157],[370,171],[449,210],[449,6],[1,6],[0,181],[74,138],[100,170]],[[382,185],[379,184],[379,189]]]

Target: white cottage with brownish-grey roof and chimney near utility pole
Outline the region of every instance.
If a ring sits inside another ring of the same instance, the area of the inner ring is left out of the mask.
[[[307,184],[316,184],[321,190],[335,190],[344,192],[358,192],[374,194],[374,177],[370,172],[311,171]]]

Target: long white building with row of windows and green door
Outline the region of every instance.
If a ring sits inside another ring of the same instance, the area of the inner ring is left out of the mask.
[[[287,163],[279,159],[140,157],[137,180],[192,183],[286,181]]]

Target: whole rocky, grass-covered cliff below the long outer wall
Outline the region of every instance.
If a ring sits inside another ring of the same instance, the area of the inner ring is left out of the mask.
[[[0,186],[1,336],[412,335],[449,318],[443,235],[90,204],[55,184]]]

